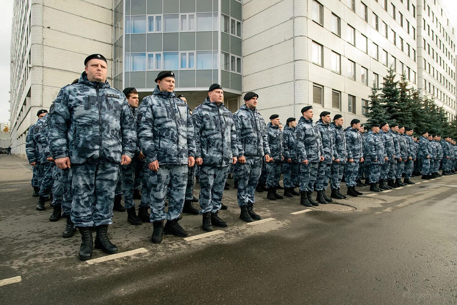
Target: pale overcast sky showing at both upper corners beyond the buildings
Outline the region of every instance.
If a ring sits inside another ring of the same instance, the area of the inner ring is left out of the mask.
[[[16,0],[17,1],[17,0]],[[454,16],[454,26],[456,25],[457,16],[457,1],[442,0],[450,16]],[[11,21],[13,17],[13,2],[14,0],[1,0],[2,9],[0,10],[0,41],[4,43],[0,48],[0,122],[8,122],[10,120],[10,44],[11,44]]]

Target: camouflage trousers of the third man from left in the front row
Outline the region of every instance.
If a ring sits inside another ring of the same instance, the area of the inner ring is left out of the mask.
[[[229,166],[200,166],[200,214],[221,209],[224,185]]]

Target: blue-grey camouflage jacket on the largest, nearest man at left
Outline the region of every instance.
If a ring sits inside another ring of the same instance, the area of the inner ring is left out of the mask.
[[[64,86],[49,114],[50,151],[71,163],[115,162],[135,153],[135,120],[124,94],[108,82],[91,82],[83,72]]]

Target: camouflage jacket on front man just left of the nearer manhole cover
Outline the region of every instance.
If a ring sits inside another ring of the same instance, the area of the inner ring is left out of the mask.
[[[297,127],[295,127],[295,141],[297,143],[298,162],[307,159],[308,162],[319,162],[320,156],[324,155],[319,127],[312,119],[300,118]]]

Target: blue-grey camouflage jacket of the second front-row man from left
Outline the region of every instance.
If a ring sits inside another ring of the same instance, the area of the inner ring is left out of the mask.
[[[141,101],[137,132],[146,163],[183,165],[195,157],[195,135],[189,107],[175,92],[160,91]]]

